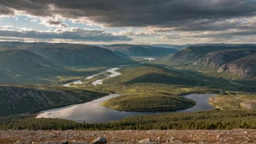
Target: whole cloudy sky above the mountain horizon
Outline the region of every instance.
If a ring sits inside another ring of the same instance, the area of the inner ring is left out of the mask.
[[[256,44],[256,1],[1,0],[0,41]]]

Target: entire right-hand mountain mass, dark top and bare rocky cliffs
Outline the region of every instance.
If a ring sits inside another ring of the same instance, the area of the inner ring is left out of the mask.
[[[255,78],[255,53],[255,44],[191,46],[171,55],[169,60],[217,68],[218,73],[229,72],[233,76]]]

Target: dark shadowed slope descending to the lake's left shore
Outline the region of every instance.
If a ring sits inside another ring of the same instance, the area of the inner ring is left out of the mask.
[[[68,92],[28,87],[0,86],[0,115],[27,113],[42,108],[81,103],[105,95],[100,92]]]

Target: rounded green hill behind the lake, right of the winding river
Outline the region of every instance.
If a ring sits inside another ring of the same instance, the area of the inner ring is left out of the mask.
[[[197,82],[180,71],[172,71],[167,68],[161,68],[153,65],[143,65],[127,68],[120,76],[112,79],[106,79],[104,84],[137,84],[137,83],[154,83],[154,84],[182,84],[196,85]]]

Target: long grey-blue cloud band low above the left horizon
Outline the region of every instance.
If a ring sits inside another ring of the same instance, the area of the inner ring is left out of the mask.
[[[80,28],[61,32],[40,31],[8,31],[0,30],[0,36],[32,39],[71,39],[83,41],[131,41],[127,36],[115,36],[111,33],[97,30],[84,30]]]

